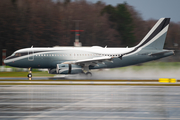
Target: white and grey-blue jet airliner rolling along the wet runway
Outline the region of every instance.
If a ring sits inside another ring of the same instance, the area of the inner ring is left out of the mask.
[[[48,68],[50,74],[92,75],[91,69],[115,68],[143,63],[174,54],[163,49],[170,18],[161,18],[135,47],[31,47],[15,51],[4,60],[13,67]]]

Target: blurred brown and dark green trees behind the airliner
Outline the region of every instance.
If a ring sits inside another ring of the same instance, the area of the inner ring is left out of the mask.
[[[84,30],[83,46],[108,47],[138,44],[157,22],[144,21],[127,3],[111,6],[100,1],[0,0],[0,11],[0,50],[7,49],[7,56],[32,45],[73,46],[76,20]],[[171,22],[165,47],[177,49],[179,38],[180,22]]]

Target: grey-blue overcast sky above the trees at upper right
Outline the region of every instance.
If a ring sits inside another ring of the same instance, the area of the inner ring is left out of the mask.
[[[87,0],[93,3],[103,1],[116,6],[127,2],[134,6],[144,20],[170,17],[173,22],[180,22],[180,0]]]

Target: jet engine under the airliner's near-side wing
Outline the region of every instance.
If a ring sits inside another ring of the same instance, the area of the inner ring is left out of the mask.
[[[73,64],[57,64],[56,69],[48,69],[49,74],[78,74],[82,73],[82,67]]]

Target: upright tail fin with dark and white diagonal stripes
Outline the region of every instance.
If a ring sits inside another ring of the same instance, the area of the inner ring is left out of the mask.
[[[137,46],[135,46],[135,48],[163,49],[169,22],[170,18],[159,19],[159,21],[153,26],[143,40]]]

